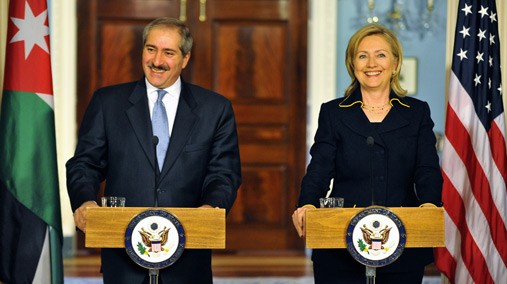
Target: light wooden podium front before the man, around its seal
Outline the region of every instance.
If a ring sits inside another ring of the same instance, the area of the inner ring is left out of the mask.
[[[89,207],[85,246],[124,248],[130,221],[148,209],[165,210],[178,218],[185,230],[185,249],[225,248],[225,209],[162,207]]]

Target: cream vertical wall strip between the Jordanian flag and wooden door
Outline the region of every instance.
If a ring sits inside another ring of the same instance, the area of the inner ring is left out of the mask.
[[[55,95],[58,178],[64,236],[76,232],[65,178],[65,162],[76,146],[77,15],[76,0],[51,0],[51,66]]]

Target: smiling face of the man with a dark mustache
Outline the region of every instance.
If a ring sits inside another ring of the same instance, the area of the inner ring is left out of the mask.
[[[143,71],[148,82],[164,89],[176,82],[187,66],[190,52],[180,50],[181,36],[176,28],[155,27],[146,37],[143,48]]]

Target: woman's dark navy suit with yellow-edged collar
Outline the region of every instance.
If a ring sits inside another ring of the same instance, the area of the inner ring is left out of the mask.
[[[370,206],[371,183],[376,205],[416,207],[429,202],[440,206],[443,180],[428,104],[391,93],[392,108],[385,119],[370,123],[361,109],[361,100],[361,93],[356,90],[348,97],[322,105],[298,206],[319,207],[319,198],[326,195],[331,179],[331,196],[343,197],[345,207]],[[371,148],[366,142],[368,137],[374,139]],[[346,250],[337,253],[341,256],[335,260],[335,269],[360,267]],[[318,258],[319,254],[316,250],[313,257]],[[432,260],[428,250],[423,255],[411,255],[406,249],[386,269],[403,271]]]

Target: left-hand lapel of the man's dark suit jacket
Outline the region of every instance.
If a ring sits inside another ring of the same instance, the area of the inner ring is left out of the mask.
[[[153,133],[151,130],[150,111],[144,78],[138,81],[129,97],[129,101],[132,106],[126,110],[127,117],[141,148],[150,161],[151,166],[155,169],[155,150],[152,143]]]

